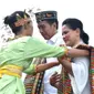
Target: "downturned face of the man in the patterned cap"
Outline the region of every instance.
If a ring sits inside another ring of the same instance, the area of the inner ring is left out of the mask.
[[[38,28],[45,40],[50,40],[54,35],[56,29],[54,23],[49,24],[46,21],[39,22]]]

